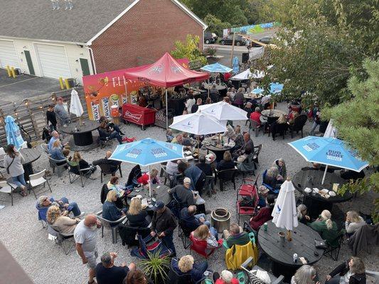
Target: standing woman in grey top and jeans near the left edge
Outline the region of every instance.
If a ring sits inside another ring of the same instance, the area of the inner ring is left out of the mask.
[[[17,187],[21,188],[21,195],[26,196],[26,182],[23,177],[22,163],[25,162],[25,159],[20,152],[17,151],[14,144],[9,144],[6,148],[6,155],[4,155],[4,168],[6,172],[9,173],[12,177],[12,181]]]

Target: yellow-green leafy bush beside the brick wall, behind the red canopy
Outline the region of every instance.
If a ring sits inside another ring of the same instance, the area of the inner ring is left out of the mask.
[[[175,49],[171,51],[171,55],[176,59],[188,58],[190,68],[203,66],[207,60],[199,50],[199,42],[200,38],[197,35],[187,35],[186,43],[182,43],[180,40],[175,42]]]

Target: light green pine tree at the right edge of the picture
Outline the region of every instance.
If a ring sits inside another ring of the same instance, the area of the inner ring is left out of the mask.
[[[322,115],[333,119],[338,129],[338,136],[343,138],[358,155],[370,165],[379,165],[379,61],[365,60],[363,63],[367,80],[361,81],[357,76],[348,80],[348,91],[353,98],[338,104],[336,107],[324,109]],[[341,191],[379,193],[379,173],[368,178],[351,182],[342,187]],[[374,219],[379,221],[379,199],[374,200]]]

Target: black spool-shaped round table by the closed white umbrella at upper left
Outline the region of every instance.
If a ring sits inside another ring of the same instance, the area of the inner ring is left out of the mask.
[[[62,127],[60,131],[73,135],[73,141],[69,142],[73,151],[89,151],[97,147],[97,143],[93,141],[92,131],[99,128],[97,121],[79,121],[68,126]]]

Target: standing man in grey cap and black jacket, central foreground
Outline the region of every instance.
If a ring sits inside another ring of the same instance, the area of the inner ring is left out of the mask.
[[[151,236],[158,236],[168,249],[172,251],[172,257],[176,256],[176,249],[173,241],[174,229],[176,228],[175,217],[171,210],[164,205],[161,200],[157,201],[153,207],[154,215],[151,220]],[[207,227],[208,228],[208,227]]]

